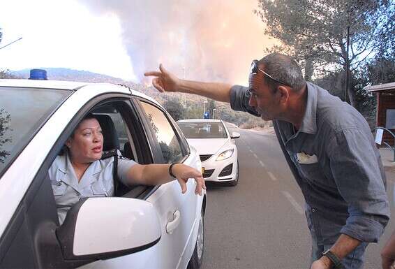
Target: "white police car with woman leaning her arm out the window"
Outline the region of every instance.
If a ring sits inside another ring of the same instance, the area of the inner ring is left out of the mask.
[[[201,169],[170,115],[133,89],[0,80],[0,268],[199,268],[206,193],[195,180],[184,195],[174,181],[82,199],[59,226],[47,171],[88,112],[106,118],[103,150]]]

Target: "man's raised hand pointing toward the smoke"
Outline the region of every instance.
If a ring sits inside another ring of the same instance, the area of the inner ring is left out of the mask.
[[[144,75],[153,75],[152,85],[158,89],[159,92],[177,92],[179,85],[179,78],[168,72],[162,64],[159,65],[160,71],[146,72]]]

